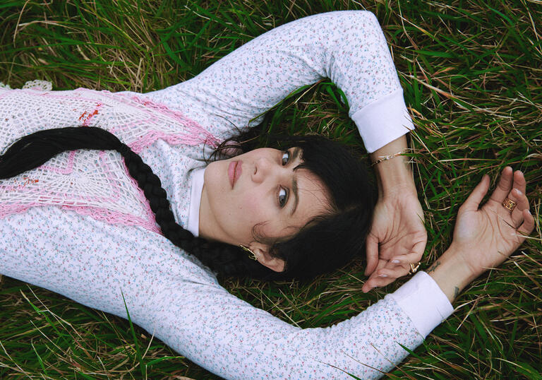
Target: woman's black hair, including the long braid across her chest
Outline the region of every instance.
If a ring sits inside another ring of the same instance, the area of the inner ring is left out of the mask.
[[[164,237],[213,271],[223,275],[286,280],[313,278],[344,266],[364,251],[371,225],[375,192],[365,166],[347,148],[321,136],[282,138],[277,142],[301,148],[301,167],[319,177],[331,195],[329,214],[313,218],[293,237],[272,242],[270,254],[286,262],[281,273],[253,261],[239,247],[194,237],[177,224],[159,178],[139,155],[104,129],[48,129],[24,136],[0,156],[0,179],[38,167],[66,150],[116,150],[143,190]]]

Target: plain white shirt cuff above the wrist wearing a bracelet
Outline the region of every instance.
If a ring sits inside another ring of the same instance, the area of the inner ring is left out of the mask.
[[[358,127],[368,153],[414,129],[414,124],[404,104],[403,90],[366,105],[351,116]]]

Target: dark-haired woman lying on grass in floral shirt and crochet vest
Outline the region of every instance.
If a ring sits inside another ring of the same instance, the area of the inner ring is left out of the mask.
[[[336,143],[306,136],[242,154],[243,143],[232,143],[236,126],[258,124],[326,76],[372,153],[374,215],[365,170]],[[365,246],[364,291],[416,271],[426,233],[401,155],[412,123],[368,12],[297,20],[143,96],[0,90],[0,102],[0,146],[9,146],[0,158],[0,273],[117,316],[128,311],[226,378],[380,376],[534,228],[523,174],[507,167],[479,210],[488,177],[476,186],[429,275],[332,328],[296,328],[219,286],[212,271],[313,278]],[[217,155],[231,157],[207,165],[218,143]]]

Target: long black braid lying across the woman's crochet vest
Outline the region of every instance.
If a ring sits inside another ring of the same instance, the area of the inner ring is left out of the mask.
[[[38,167],[55,155],[76,149],[116,150],[124,158],[131,177],[143,190],[164,237],[193,254],[213,271],[224,275],[265,277],[270,270],[248,259],[238,247],[195,237],[177,224],[160,179],[140,156],[109,131],[97,127],[68,127],[37,131],[13,143],[0,156],[0,179]]]

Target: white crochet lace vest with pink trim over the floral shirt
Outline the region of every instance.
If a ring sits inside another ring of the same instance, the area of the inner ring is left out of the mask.
[[[65,126],[107,129],[135,153],[159,138],[171,145],[217,142],[194,121],[142,97],[83,88],[49,92],[51,83],[44,81],[25,88],[0,86],[0,150],[28,133]],[[61,206],[159,232],[143,191],[121,155],[112,151],[65,152],[35,170],[0,179],[0,218],[32,206]]]

